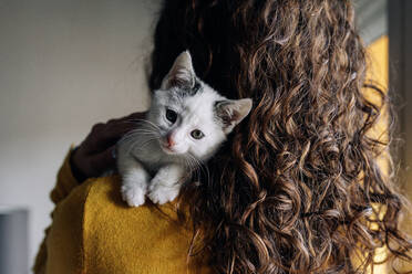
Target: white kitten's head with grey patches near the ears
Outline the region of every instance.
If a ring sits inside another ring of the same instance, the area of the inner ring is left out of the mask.
[[[250,108],[251,99],[227,99],[196,77],[185,51],[154,93],[148,119],[167,155],[206,160]]]

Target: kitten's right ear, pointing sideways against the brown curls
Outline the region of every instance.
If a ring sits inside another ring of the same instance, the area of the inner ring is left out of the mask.
[[[215,115],[222,122],[225,134],[229,134],[250,112],[253,101],[225,99],[215,103]]]

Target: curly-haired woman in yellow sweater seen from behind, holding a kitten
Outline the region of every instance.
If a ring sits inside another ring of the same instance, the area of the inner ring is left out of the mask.
[[[254,99],[247,122],[161,210],[92,178],[140,114],[95,126],[59,175],[37,273],[363,273],[381,246],[410,262],[402,198],[378,165],[390,139],[368,135],[388,101],[365,82],[349,0],[165,1],[154,45],[151,89],[188,49],[206,83]]]

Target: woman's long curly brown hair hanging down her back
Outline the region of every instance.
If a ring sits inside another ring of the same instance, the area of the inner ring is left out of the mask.
[[[371,134],[390,104],[365,81],[353,21],[349,0],[164,1],[150,87],[188,49],[206,83],[254,99],[181,196],[190,255],[217,273],[365,272],[382,246],[410,260],[403,200],[380,164],[391,167],[391,130]]]

